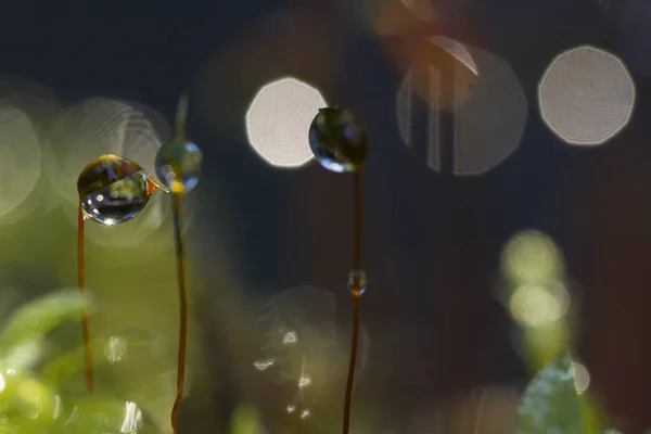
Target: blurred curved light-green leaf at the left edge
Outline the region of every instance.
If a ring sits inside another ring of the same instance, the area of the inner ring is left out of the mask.
[[[42,337],[67,319],[78,320],[86,307],[79,290],[58,291],[21,307],[0,332],[0,354],[12,363],[8,368],[33,363]]]

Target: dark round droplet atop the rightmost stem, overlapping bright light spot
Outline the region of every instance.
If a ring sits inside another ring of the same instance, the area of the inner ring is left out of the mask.
[[[319,110],[309,127],[309,146],[328,170],[359,170],[367,155],[367,136],[361,122],[344,108]]]

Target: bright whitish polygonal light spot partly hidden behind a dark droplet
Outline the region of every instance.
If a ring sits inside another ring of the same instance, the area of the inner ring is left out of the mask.
[[[301,167],[312,159],[309,126],[326,100],[293,77],[260,88],[246,111],[246,136],[253,150],[271,166]]]

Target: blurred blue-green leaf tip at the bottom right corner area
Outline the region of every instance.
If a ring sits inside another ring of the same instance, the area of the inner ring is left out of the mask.
[[[572,359],[561,356],[542,368],[522,395],[515,434],[584,434]]]

